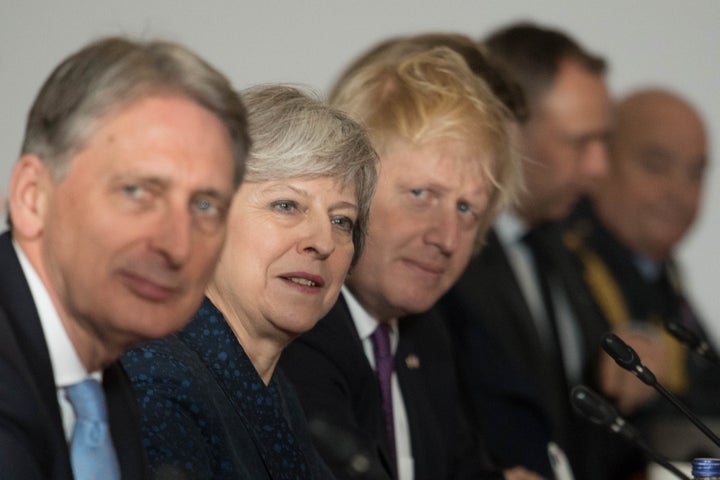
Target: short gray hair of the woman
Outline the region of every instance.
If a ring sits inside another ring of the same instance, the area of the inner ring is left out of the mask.
[[[246,181],[331,177],[343,188],[355,187],[354,265],[365,243],[377,183],[377,154],[365,130],[314,93],[297,87],[258,85],[241,96],[253,139]]]

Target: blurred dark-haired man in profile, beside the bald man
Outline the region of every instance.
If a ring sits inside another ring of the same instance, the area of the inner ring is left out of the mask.
[[[552,440],[568,454],[577,478],[594,478],[602,462],[587,461],[595,449],[584,448],[569,387],[591,378],[605,328],[587,292],[578,288],[553,222],[567,215],[606,170],[605,62],[564,33],[533,24],[500,29],[485,45],[525,93],[529,120],[518,126],[518,135],[526,188],[494,223],[487,245],[441,306],[457,346],[462,383],[474,394],[491,450],[549,475]],[[482,336],[517,362],[515,373],[485,368],[494,359],[477,348]],[[503,391],[508,383],[522,388]],[[522,431],[515,428],[521,417],[506,416],[513,406],[535,412],[532,435],[515,433]],[[549,435],[543,424],[550,426]]]

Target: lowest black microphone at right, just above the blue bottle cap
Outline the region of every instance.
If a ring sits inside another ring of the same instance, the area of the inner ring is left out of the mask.
[[[570,403],[572,403],[575,410],[586,420],[589,420],[595,425],[605,427],[613,433],[622,435],[640,447],[657,464],[672,472],[676,477],[682,480],[690,480],[687,475],[670,463],[666,457],[650,448],[640,437],[638,431],[618,415],[612,405],[588,387],[584,385],[574,387],[570,393]]]

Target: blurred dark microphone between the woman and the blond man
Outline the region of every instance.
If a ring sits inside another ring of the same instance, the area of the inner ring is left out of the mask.
[[[321,417],[309,419],[308,429],[327,464],[341,468],[347,478],[389,478],[389,474],[373,459],[370,452],[345,429]]]

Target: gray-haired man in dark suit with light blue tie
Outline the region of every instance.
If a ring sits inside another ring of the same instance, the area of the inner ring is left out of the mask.
[[[227,80],[179,45],[103,39],[45,82],[0,236],[3,478],[145,478],[116,360],[197,309],[247,146]]]

